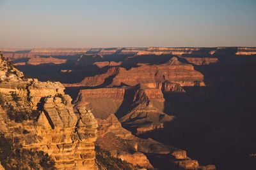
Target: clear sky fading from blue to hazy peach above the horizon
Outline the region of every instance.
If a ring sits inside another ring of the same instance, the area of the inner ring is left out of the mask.
[[[0,0],[0,47],[256,46],[255,0]]]

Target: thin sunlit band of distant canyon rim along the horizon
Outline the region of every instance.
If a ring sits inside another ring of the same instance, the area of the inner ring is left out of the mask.
[[[254,47],[230,47],[236,50],[236,55],[255,55]],[[0,48],[4,55],[11,59],[35,58],[36,56],[58,56],[70,57],[79,55],[175,55],[179,57],[209,57],[222,50],[230,50],[228,47],[212,47],[212,48],[167,48],[167,47],[149,47],[149,48],[29,48],[29,49],[13,49]],[[200,58],[199,57],[199,58]],[[97,60],[96,62],[99,62]]]

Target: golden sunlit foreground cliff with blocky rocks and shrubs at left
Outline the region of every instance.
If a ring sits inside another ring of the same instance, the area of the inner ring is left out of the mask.
[[[0,79],[0,133],[4,138],[15,139],[21,150],[48,153],[58,169],[97,169],[97,122],[82,106],[74,113],[60,82],[26,78],[3,57]]]

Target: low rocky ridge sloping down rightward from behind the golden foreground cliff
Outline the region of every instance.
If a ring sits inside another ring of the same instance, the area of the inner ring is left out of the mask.
[[[160,161],[165,168],[168,166],[173,169],[216,169],[212,165],[199,166],[198,161],[190,159],[184,150],[163,145],[153,139],[141,139],[133,136],[131,132],[122,127],[115,115],[110,115],[104,120],[97,119],[97,121],[99,129],[96,144],[100,148],[108,150],[111,155],[131,164],[153,169],[146,157],[146,155],[152,154],[168,158]]]

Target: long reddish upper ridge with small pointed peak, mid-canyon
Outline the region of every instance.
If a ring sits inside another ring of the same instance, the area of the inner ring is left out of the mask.
[[[191,64],[184,64],[176,57],[170,59],[166,64],[143,65],[132,67],[127,70],[124,67],[111,67],[107,73],[86,77],[76,84],[65,84],[66,87],[99,85],[120,86],[122,83],[134,86],[139,83],[155,83],[157,81],[170,81],[179,83],[181,86],[204,86],[204,75],[195,71]]]

